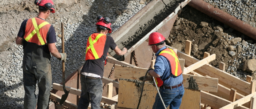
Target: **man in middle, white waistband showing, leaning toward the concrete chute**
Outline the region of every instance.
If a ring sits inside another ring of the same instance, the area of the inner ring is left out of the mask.
[[[108,17],[97,17],[97,32],[93,33],[87,40],[85,63],[81,70],[82,93],[78,103],[78,109],[87,109],[91,102],[91,109],[100,109],[102,98],[102,78],[104,66],[107,62],[109,48],[114,50],[117,55],[124,55],[127,49],[123,51],[114,43],[111,36],[111,20]]]

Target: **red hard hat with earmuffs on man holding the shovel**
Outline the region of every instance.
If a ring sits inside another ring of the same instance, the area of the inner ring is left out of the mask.
[[[52,10],[52,13],[55,13],[52,0],[35,0],[35,5],[45,7],[46,9]]]

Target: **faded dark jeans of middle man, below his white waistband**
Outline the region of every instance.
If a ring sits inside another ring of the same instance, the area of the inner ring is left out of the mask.
[[[81,75],[82,93],[78,102],[78,109],[87,109],[91,102],[91,109],[100,109],[102,98],[102,80],[86,78]]]

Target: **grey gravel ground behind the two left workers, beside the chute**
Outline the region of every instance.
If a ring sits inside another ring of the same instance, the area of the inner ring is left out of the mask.
[[[109,4],[113,4],[111,0],[105,0],[101,8],[108,11],[101,12],[97,15],[98,6],[93,5],[93,1],[89,1],[87,4],[92,5],[90,12],[74,11],[72,12],[68,8],[61,8],[60,11],[54,13],[59,14],[64,11],[68,11],[71,16],[58,16],[49,17],[46,21],[53,22],[57,36],[57,49],[61,52],[61,29],[60,24],[64,21],[65,29],[65,53],[67,53],[67,61],[65,62],[66,77],[71,74],[75,69],[84,63],[84,55],[86,42],[89,35],[96,32],[96,17],[102,15],[109,17],[112,23],[112,31],[116,31],[121,25],[129,20],[135,13],[143,8],[147,2],[140,0],[121,0],[118,7],[108,7]],[[125,5],[124,5],[125,4]],[[120,14],[121,13],[121,14]],[[74,17],[75,19],[70,19]],[[13,32],[14,33],[14,32]],[[17,31],[18,33],[18,31]],[[58,37],[59,36],[59,37]],[[22,72],[22,60],[23,60],[23,48],[21,45],[16,45],[13,42],[13,46],[6,52],[5,60],[0,61],[0,107],[5,109],[23,109],[24,88],[23,88],[23,72]],[[52,82],[62,82],[62,63],[57,58],[51,58],[52,66]],[[35,90],[36,96],[38,96],[38,89]]]

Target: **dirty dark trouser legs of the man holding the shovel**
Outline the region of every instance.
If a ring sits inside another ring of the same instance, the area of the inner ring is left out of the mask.
[[[50,88],[52,86],[52,71],[50,62],[39,63],[36,68],[27,68],[26,61],[23,62],[23,83],[25,89],[25,109],[47,109],[49,108]],[[38,81],[38,100],[35,96],[35,86]]]

